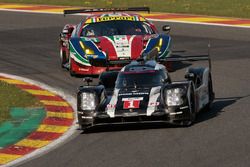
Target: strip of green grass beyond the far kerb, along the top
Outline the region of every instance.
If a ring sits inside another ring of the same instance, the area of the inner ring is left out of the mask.
[[[250,0],[0,0],[0,2],[84,7],[149,6],[155,12],[250,18]]]

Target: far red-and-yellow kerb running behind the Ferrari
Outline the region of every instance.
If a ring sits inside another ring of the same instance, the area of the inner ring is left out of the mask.
[[[65,6],[21,5],[21,4],[0,3],[0,10],[6,10],[6,11],[62,14],[64,10],[71,10],[71,9],[76,9],[76,8],[65,7]],[[178,22],[178,23],[250,28],[250,19],[208,17],[208,16],[170,14],[170,13],[140,13],[140,14],[152,21],[164,21],[164,22],[167,21],[167,22]]]

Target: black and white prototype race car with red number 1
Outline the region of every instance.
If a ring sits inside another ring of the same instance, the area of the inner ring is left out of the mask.
[[[209,67],[189,68],[185,80],[172,81],[165,66],[151,58],[147,60],[152,57],[150,54],[132,61],[121,71],[102,73],[96,86],[79,88],[77,115],[82,129],[102,124],[145,122],[189,126],[199,111],[211,106],[214,93]],[[209,60],[209,57],[164,61],[196,60]]]

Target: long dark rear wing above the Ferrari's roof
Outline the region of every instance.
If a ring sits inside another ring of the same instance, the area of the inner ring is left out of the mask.
[[[76,14],[76,13],[93,13],[93,12],[121,12],[121,11],[135,11],[142,12],[146,11],[150,13],[149,7],[128,7],[128,8],[96,8],[96,9],[73,9],[73,10],[64,10],[63,14]]]

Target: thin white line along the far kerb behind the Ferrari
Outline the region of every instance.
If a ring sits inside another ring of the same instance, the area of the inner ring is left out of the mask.
[[[30,11],[30,10],[18,10],[18,9],[0,9],[0,11],[12,11],[12,12],[25,12],[25,13],[41,13],[41,14],[60,14],[62,12],[45,12],[45,11]],[[80,16],[89,16],[90,14],[74,14]],[[203,23],[203,22],[192,22],[192,21],[180,21],[180,20],[168,20],[168,19],[148,19],[150,21],[158,22],[170,22],[170,23],[183,23],[183,24],[196,24],[196,25],[209,25],[209,26],[220,26],[220,27],[235,27],[235,28],[250,28],[250,26],[244,25],[229,25],[229,24],[219,24],[219,23]]]

